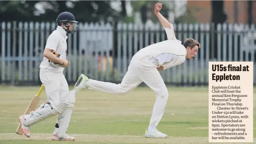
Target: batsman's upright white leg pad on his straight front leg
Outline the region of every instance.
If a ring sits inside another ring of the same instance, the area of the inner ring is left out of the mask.
[[[73,108],[75,106],[75,99],[76,99],[76,90],[71,90],[66,98],[65,103],[67,103],[67,108],[58,115],[58,122],[59,122],[59,130],[58,130],[58,137],[62,138],[65,133],[67,132],[67,128],[71,119],[71,114]]]

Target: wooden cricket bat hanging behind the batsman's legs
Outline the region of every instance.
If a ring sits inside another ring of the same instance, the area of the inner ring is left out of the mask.
[[[41,85],[41,88],[39,89],[39,91],[38,91],[38,93],[37,93],[37,95],[35,95],[34,98],[30,101],[30,104],[29,104],[29,106],[27,107],[27,109],[26,109],[24,115],[29,114],[31,111],[36,110],[36,107],[37,107],[37,105],[38,105],[38,103],[39,103],[39,101],[40,101],[40,99],[41,99],[41,98],[40,98],[40,95],[41,95],[41,92],[42,92],[43,88],[44,88],[44,85],[42,84],[42,85]],[[18,127],[17,127],[16,133],[17,133],[18,135],[23,135],[23,131],[22,131],[22,129],[21,129],[21,124],[20,124],[20,123],[19,123],[19,125],[18,125]]]

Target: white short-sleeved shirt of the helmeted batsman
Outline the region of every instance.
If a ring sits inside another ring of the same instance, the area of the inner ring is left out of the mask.
[[[60,26],[53,31],[46,41],[45,48],[52,49],[55,52],[59,53],[63,58],[67,57],[67,32]],[[63,72],[64,68],[56,68],[49,63],[49,60],[46,57],[43,57],[40,68],[49,69],[53,72]]]

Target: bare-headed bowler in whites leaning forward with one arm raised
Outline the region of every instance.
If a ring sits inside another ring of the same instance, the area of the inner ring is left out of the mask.
[[[200,48],[200,44],[196,40],[186,39],[184,44],[181,44],[181,41],[176,39],[172,24],[159,13],[161,8],[162,4],[155,4],[155,15],[164,27],[168,40],[151,44],[139,50],[132,57],[121,84],[91,80],[81,74],[75,85],[79,90],[88,87],[92,90],[124,95],[142,82],[147,84],[156,95],[151,120],[145,132],[145,137],[152,138],[167,137],[166,134],[156,129],[168,100],[167,87],[158,71],[182,64],[186,58],[192,59]]]

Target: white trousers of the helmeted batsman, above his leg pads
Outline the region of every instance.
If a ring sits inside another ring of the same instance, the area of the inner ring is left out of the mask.
[[[69,88],[63,72],[52,72],[48,69],[40,69],[39,76],[45,87],[47,101],[53,104],[59,103],[65,99]]]

